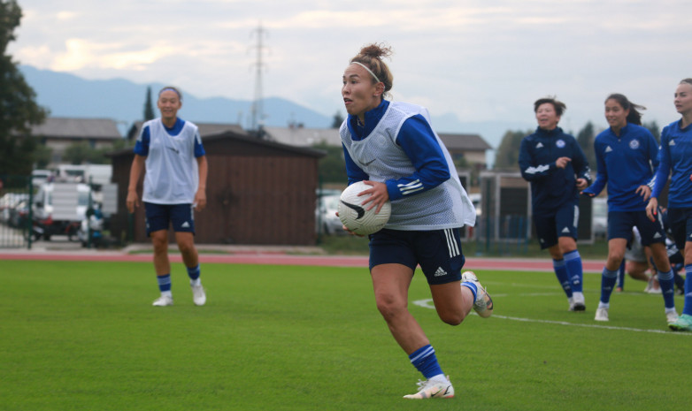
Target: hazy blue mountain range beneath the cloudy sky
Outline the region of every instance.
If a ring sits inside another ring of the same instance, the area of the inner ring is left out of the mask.
[[[39,70],[30,65],[19,65],[29,85],[34,88],[37,101],[50,109],[52,117],[112,118],[119,122],[124,134],[127,128],[142,119],[147,87],[152,97],[165,85],[161,83],[136,84],[129,80],[86,80],[65,72]],[[225,97],[197,98],[186,90],[184,117],[200,123],[235,123],[250,127],[252,102]],[[265,125],[284,127],[300,123],[308,128],[326,128],[333,116],[319,113],[279,97],[265,98]],[[156,110],[156,107],[154,108]],[[530,123],[497,121],[462,122],[451,113],[433,116],[434,129],[440,133],[476,133],[497,148],[508,130],[530,130]],[[492,162],[492,159],[490,159]]]

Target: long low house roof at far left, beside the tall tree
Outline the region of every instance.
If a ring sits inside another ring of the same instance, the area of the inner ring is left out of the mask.
[[[49,117],[39,126],[32,126],[35,136],[66,139],[103,139],[122,138],[118,125],[110,118],[58,118]]]

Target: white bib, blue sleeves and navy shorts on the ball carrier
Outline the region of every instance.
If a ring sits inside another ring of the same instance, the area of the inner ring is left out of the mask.
[[[459,228],[475,225],[476,214],[427,110],[383,100],[365,112],[365,126],[349,115],[340,133],[349,184],[382,182],[391,201],[388,224],[370,236],[371,269],[402,263],[415,270],[420,264],[430,284],[460,279]]]

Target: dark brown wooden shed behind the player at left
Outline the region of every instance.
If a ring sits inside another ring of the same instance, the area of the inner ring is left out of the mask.
[[[209,178],[207,206],[195,213],[197,244],[315,244],[318,161],[324,152],[233,131],[202,135],[202,142]],[[119,193],[111,233],[116,238],[148,242],[143,207],[134,216],[127,213],[132,149],[111,156]],[[141,196],[142,180],[138,191]]]

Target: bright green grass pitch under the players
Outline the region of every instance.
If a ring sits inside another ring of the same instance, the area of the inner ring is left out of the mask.
[[[473,267],[468,267],[473,269]],[[0,409],[9,410],[680,410],[692,333],[665,331],[660,296],[628,278],[611,322],[567,312],[550,273],[477,271],[489,319],[451,327],[411,312],[450,374],[452,400],[404,400],[418,372],[377,312],[363,269],[203,264],[192,303],[181,264],[175,305],[150,263],[0,261]],[[634,291],[636,290],[636,292]],[[415,303],[414,301],[422,301]],[[676,297],[679,311],[682,300]]]

